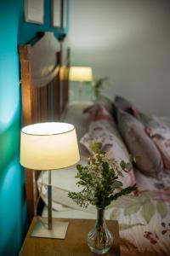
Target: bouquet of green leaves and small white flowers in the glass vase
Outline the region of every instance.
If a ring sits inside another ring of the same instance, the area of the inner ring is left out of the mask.
[[[77,185],[82,188],[81,192],[69,192],[68,196],[81,207],[88,207],[88,204],[99,208],[105,208],[122,195],[127,195],[136,190],[136,185],[125,189],[118,177],[122,172],[129,169],[131,162],[121,161],[118,163],[115,159],[107,158],[102,150],[102,143],[93,143],[91,145],[93,154],[88,159],[88,165],[77,165]],[[132,157],[131,157],[132,158]],[[115,189],[120,189],[115,192]]]

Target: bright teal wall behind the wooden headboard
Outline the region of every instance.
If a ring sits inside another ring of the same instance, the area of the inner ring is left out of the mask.
[[[45,0],[45,24],[24,22],[23,0],[0,0],[0,255],[15,256],[26,235],[25,172],[20,168],[20,69],[18,44],[51,26],[51,1]],[[65,30],[67,32],[67,30]]]

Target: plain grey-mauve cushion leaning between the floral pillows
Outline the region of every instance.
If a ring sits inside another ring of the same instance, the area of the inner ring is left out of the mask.
[[[158,177],[163,170],[161,154],[144,131],[138,119],[118,109],[118,127],[130,153],[139,156],[136,166],[150,177]]]

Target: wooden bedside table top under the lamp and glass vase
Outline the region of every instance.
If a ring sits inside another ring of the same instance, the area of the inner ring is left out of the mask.
[[[53,218],[55,221],[56,218]],[[65,236],[65,240],[31,237],[37,218],[33,218],[30,229],[26,235],[26,239],[20,250],[20,256],[93,256],[88,247],[88,232],[94,227],[93,219],[75,219],[75,218],[59,218],[59,220],[68,221],[69,226]],[[114,243],[111,250],[104,255],[119,256],[120,247],[119,226],[115,220],[107,220],[107,226],[114,236]]]

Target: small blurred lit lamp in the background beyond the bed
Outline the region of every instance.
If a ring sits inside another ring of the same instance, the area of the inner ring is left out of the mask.
[[[92,67],[70,67],[69,80],[79,82],[79,100],[82,100],[82,82],[93,80]]]

